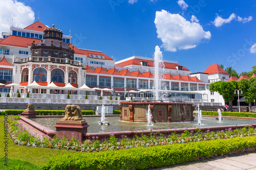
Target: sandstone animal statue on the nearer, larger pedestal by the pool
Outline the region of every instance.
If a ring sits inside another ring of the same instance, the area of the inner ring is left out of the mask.
[[[83,120],[80,107],[77,105],[67,105],[65,117],[62,120]]]

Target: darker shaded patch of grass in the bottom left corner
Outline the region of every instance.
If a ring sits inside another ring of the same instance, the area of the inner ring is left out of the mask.
[[[21,160],[16,160],[16,159],[8,159],[8,166],[5,165],[5,159],[0,158],[0,169],[38,169],[38,166],[27,162],[27,161],[21,161]]]

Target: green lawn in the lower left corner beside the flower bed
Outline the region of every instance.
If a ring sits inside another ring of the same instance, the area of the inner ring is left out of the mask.
[[[33,148],[33,147],[23,147],[17,146],[13,144],[10,135],[8,134],[8,167],[4,165],[4,123],[2,119],[3,115],[0,116],[0,169],[9,168],[12,165],[24,165],[28,166],[29,169],[35,169],[37,166],[47,164],[48,159],[50,157],[65,154],[65,153],[74,153],[75,151],[66,151],[66,150],[56,150],[56,149],[48,149],[48,148]]]

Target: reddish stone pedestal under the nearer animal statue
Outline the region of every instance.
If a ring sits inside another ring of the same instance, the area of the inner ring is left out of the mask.
[[[75,136],[80,142],[83,141],[83,134],[87,133],[86,120],[58,120],[54,126],[59,137],[66,137],[71,140],[72,136]]]

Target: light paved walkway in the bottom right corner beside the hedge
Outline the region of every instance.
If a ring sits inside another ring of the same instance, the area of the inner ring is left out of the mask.
[[[154,168],[153,168],[154,169]],[[237,169],[250,169],[256,170],[256,152],[242,155],[232,155],[232,156],[218,156],[212,159],[205,159],[204,162],[193,161],[187,162],[184,164],[177,164],[173,166],[166,166],[161,168],[155,168],[157,170],[215,170],[215,169],[228,169],[228,170],[237,170]]]

